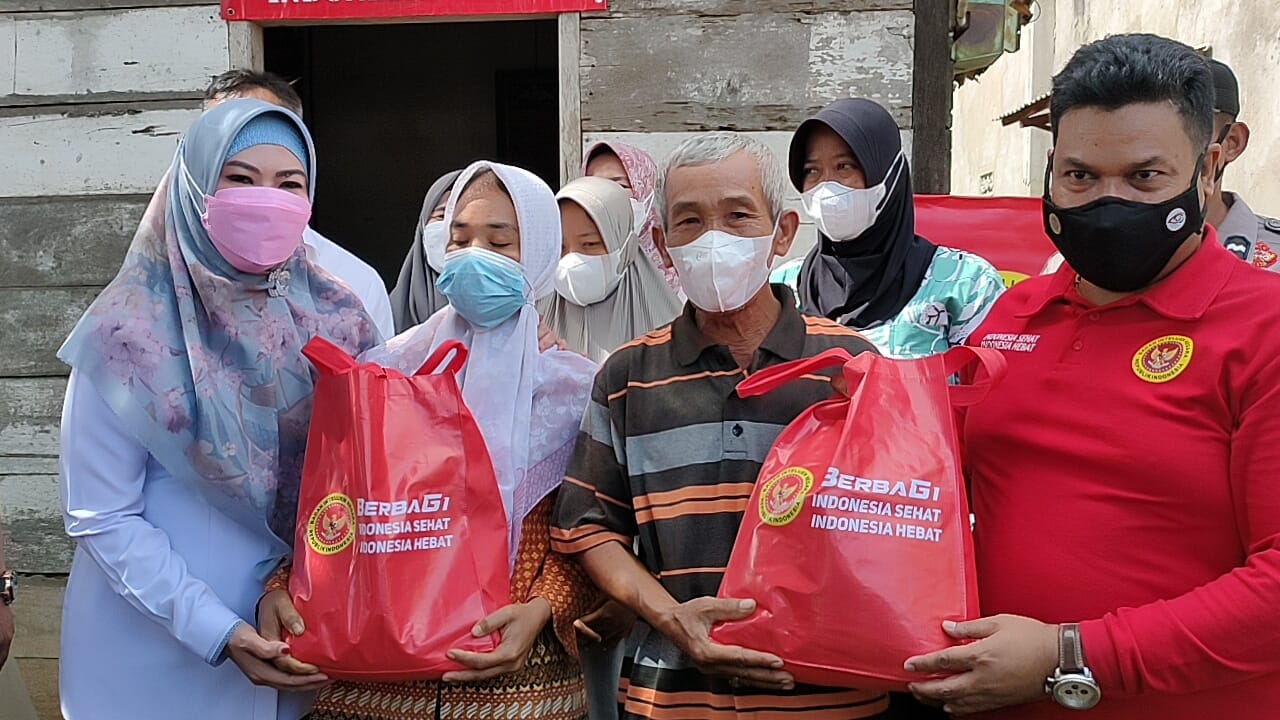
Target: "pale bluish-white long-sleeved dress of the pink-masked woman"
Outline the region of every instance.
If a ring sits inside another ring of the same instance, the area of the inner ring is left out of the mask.
[[[175,480],[74,372],[59,462],[77,541],[63,607],[67,720],[305,715],[310,694],[256,687],[224,661],[230,632],[255,621],[257,565],[278,555],[278,541]]]

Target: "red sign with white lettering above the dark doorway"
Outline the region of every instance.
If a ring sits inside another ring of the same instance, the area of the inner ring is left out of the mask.
[[[223,0],[223,19],[278,22],[544,15],[608,9],[608,0]]]

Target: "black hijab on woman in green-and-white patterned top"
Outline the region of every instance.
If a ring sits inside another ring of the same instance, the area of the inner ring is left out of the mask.
[[[820,124],[849,145],[868,187],[884,182],[902,150],[897,123],[878,104],[851,99],[827,105],[796,129],[788,163],[796,190],[804,190],[809,137]],[[884,209],[872,227],[847,242],[820,236],[805,258],[799,282],[805,313],[868,328],[901,313],[920,290],[937,246],[915,234],[910,165],[896,174],[899,179],[888,188]]]

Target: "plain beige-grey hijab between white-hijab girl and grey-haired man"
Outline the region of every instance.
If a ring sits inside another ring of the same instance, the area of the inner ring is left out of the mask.
[[[604,246],[618,256],[621,282],[604,300],[580,306],[553,293],[539,311],[561,340],[576,352],[603,363],[618,346],[676,318],[681,302],[658,268],[640,252],[632,228],[627,191],[602,178],[579,178],[556,195],[576,202],[595,223]]]

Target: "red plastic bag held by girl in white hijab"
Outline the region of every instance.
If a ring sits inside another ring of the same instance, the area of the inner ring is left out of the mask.
[[[439,679],[461,669],[451,648],[494,648],[497,635],[471,628],[511,585],[498,480],[454,379],[466,348],[442,346],[413,377],[320,338],[302,352],[320,378],[289,579],[307,629],[293,656],[338,679]]]

